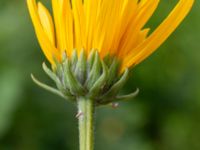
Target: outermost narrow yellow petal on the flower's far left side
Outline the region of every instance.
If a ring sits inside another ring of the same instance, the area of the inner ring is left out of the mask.
[[[56,57],[58,60],[60,60],[60,55],[57,49],[54,47],[54,45],[51,43],[51,41],[47,37],[42,27],[42,24],[40,22],[39,15],[38,15],[37,4],[35,0],[27,0],[27,4],[28,4],[29,13],[32,18],[32,22],[35,28],[35,32],[36,32],[39,44],[45,56],[49,60],[49,62],[51,64],[54,64],[53,57]]]

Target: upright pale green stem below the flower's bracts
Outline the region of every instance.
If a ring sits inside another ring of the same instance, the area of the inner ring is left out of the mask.
[[[94,109],[93,100],[78,99],[80,150],[94,149]]]

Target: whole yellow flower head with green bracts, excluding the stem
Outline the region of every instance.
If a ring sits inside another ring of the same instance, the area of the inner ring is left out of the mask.
[[[27,0],[39,44],[54,68],[44,70],[59,91],[34,80],[67,99],[87,97],[96,105],[135,96],[138,91],[116,96],[128,69],[170,36],[193,3],[179,0],[149,34],[144,26],[159,0],[52,0],[52,14],[41,2]]]

